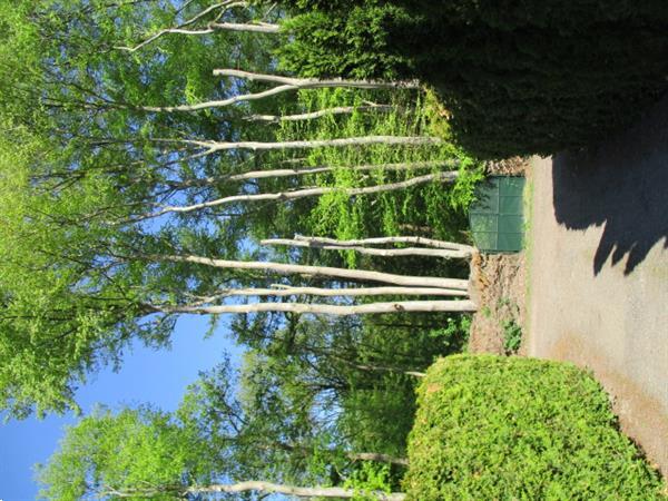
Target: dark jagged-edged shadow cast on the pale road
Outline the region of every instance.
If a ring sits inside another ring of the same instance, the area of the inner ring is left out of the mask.
[[[559,224],[605,226],[595,275],[610,256],[612,265],[628,256],[629,275],[658,242],[668,248],[668,96],[606,144],[554,156],[552,181]]]

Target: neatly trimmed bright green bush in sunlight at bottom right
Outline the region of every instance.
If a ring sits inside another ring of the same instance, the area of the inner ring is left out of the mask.
[[[571,364],[453,355],[418,403],[410,500],[665,499],[601,386]]]

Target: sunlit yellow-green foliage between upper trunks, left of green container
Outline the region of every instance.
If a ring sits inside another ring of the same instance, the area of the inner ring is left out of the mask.
[[[322,139],[355,136],[430,136],[434,129],[443,130],[436,102],[431,95],[423,97],[414,91],[360,92],[346,89],[321,89],[299,92],[299,104],[306,111],[333,107],[364,106],[375,100],[394,107],[392,111],[356,111],[345,116],[327,116],[307,122],[285,122],[278,139]],[[459,170],[453,186],[440,183],[410,189],[387,191],[373,196],[350,197],[332,193],[317,199],[310,213],[299,219],[299,227],[285,228],[283,235],[303,233],[336,237],[363,238],[379,235],[414,233],[405,227],[428,227],[432,236],[445,240],[461,240],[466,227],[465,209],[473,197],[473,185],[481,178],[481,164],[445,141],[439,146],[385,146],[365,148],[318,148],[306,154],[304,161],[311,166],[337,167],[333,174],[318,175],[315,184],[341,188],[381,185],[442,170]],[[384,169],[384,164],[416,164],[443,161],[448,165],[432,169]],[[355,170],[358,165],[379,165],[376,170]],[[308,179],[305,181],[307,183]],[[276,220],[276,219],[274,219]],[[294,217],[277,220],[293,222]],[[350,266],[361,266],[358,256],[345,253]]]

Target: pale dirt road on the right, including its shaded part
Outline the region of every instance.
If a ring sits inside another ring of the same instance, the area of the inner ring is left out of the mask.
[[[668,477],[668,98],[532,177],[529,355],[591,369]]]

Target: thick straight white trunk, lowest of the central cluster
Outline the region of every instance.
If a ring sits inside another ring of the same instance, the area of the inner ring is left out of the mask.
[[[313,315],[370,315],[382,313],[423,313],[423,312],[475,312],[472,301],[397,301],[392,303],[371,303],[358,305],[307,304],[307,303],[252,303],[216,306],[155,306],[163,313],[191,313],[198,315],[219,315],[224,313],[285,312]]]

